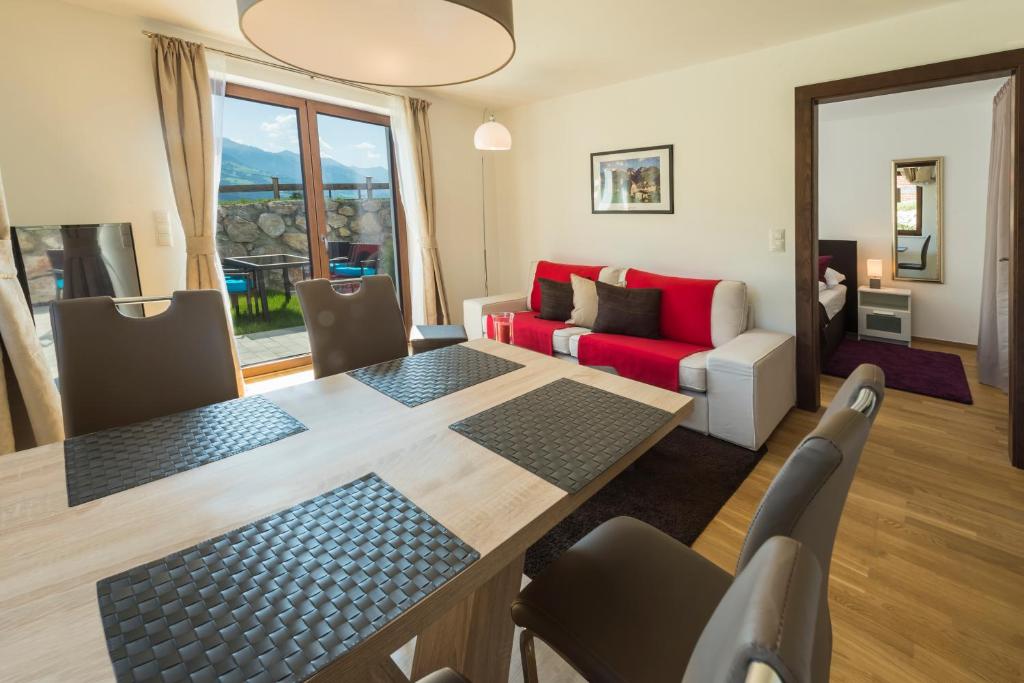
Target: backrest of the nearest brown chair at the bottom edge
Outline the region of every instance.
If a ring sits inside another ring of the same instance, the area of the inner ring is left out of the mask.
[[[822,583],[801,543],[784,537],[763,543],[700,633],[683,683],[745,683],[758,669],[766,682],[824,681],[813,673]]]

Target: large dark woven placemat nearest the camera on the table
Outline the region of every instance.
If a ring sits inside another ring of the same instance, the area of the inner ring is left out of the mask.
[[[96,584],[118,680],[305,680],[479,558],[376,474]]]

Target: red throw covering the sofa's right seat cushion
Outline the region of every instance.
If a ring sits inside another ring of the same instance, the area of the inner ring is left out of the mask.
[[[679,361],[709,346],[593,333],[580,337],[580,365],[607,366],[637,382],[679,391]]]

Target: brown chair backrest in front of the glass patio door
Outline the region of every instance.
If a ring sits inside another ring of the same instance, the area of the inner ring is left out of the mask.
[[[358,291],[338,294],[327,280],[295,284],[319,379],[408,355],[409,340],[394,284],[362,278]]]

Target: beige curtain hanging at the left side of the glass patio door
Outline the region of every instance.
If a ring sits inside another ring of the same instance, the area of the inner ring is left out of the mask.
[[[153,67],[174,203],[185,233],[185,287],[219,290],[230,329],[227,290],[217,258],[216,139],[206,50],[198,43],[157,35]],[[245,383],[237,349],[234,376],[242,394]]]

